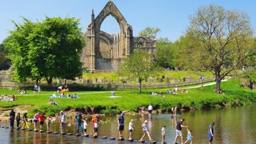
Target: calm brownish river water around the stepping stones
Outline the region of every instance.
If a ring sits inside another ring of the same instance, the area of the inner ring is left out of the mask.
[[[193,143],[207,143],[208,127],[212,121],[214,126],[213,143],[255,143],[256,141],[256,106],[233,107],[223,109],[199,110],[181,112],[177,119],[171,118],[170,114],[153,115],[151,119],[148,115],[144,117],[140,115],[125,116],[125,131],[124,138],[129,137],[128,124],[130,119],[134,119],[133,139],[139,140],[143,132],[141,124],[144,120],[148,120],[148,131],[151,137],[161,143],[162,125],[166,125],[166,142],[173,143],[175,138],[175,121],[180,118],[185,118],[183,125],[189,126],[193,130]],[[118,138],[116,116],[100,117],[99,137],[116,137]],[[69,120],[68,123],[71,121]],[[9,126],[9,123],[1,123],[1,126]],[[33,124],[30,128],[33,128]],[[46,126],[46,124],[44,125]],[[46,127],[44,127],[46,130]],[[51,131],[59,131],[58,123],[51,123]],[[183,139],[186,140],[187,131],[182,130]],[[75,124],[66,127],[67,133],[76,133]],[[91,124],[87,127],[88,134],[92,135]],[[109,139],[94,139],[75,137],[60,134],[47,134],[32,131],[21,131],[15,129],[0,128],[0,143],[131,143],[127,141],[117,141]],[[145,138],[148,141],[148,138]],[[179,141],[180,143],[180,138]],[[137,143],[137,142],[134,142]],[[146,142],[147,143],[147,142]]]

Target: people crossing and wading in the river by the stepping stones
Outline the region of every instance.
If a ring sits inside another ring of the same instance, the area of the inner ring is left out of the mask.
[[[172,108],[173,111],[177,111],[177,107],[173,107]],[[149,119],[151,119],[151,114],[152,114],[152,111],[153,111],[153,106],[152,105],[149,105],[148,106],[148,116],[149,116]],[[123,131],[124,131],[124,115],[125,113],[122,113],[121,115],[118,116],[117,118],[117,124],[118,124],[118,133],[119,133],[119,139],[123,139]],[[174,115],[176,116],[176,112],[174,112]],[[29,129],[29,126],[28,126],[28,119],[27,119],[27,113],[25,113],[23,115],[23,117],[21,118],[20,116],[20,113],[18,113],[18,115],[15,117],[15,113],[14,113],[14,110],[12,109],[11,112],[10,112],[10,126],[11,128],[14,128],[14,121],[17,121],[17,129],[20,129],[20,121],[23,122],[23,126],[22,126],[22,129],[23,127],[26,126],[27,129]],[[46,125],[47,125],[47,132],[50,132],[50,123],[51,123],[51,116],[48,115],[47,117],[44,116],[44,113],[39,113],[39,111],[37,111],[37,113],[34,115],[34,118],[33,118],[33,122],[34,122],[34,131],[38,131],[37,130],[37,123],[39,122],[40,124],[40,130],[39,131],[43,131],[43,125],[44,125],[44,122],[46,121]],[[81,129],[81,134],[82,135],[87,135],[86,132],[87,132],[87,126],[89,124],[86,123],[86,119],[83,119],[83,116],[82,116],[82,113],[79,112],[77,113],[74,118],[73,118],[73,121],[72,121],[72,124],[74,124],[74,122],[76,121],[76,134],[79,135],[79,129]],[[98,117],[98,114],[95,114],[93,117],[92,117],[92,130],[93,130],[93,136],[94,137],[97,137],[98,136],[98,121],[99,121],[99,117]],[[193,141],[193,136],[192,136],[192,130],[189,130],[188,129],[188,126],[185,126],[183,125],[183,122],[185,121],[184,118],[181,118],[177,124],[175,125],[175,132],[176,132],[176,137],[174,139],[174,144],[177,143],[177,140],[178,138],[180,137],[181,138],[181,143],[183,144],[183,134],[182,134],[182,128],[186,128],[187,129],[187,140],[184,142],[187,143],[188,141],[190,141],[190,144],[192,143]],[[65,133],[65,127],[67,125],[67,115],[65,113],[63,113],[63,111],[60,111],[60,118],[59,118],[59,121],[60,123],[60,126],[61,126],[61,133]],[[143,122],[143,124],[141,125],[141,129],[143,131],[143,135],[140,139],[140,141],[143,140],[143,138],[145,138],[146,136],[148,136],[149,138],[149,141],[153,141],[153,139],[150,137],[150,134],[147,130],[147,124],[148,124],[148,121],[145,120]],[[208,132],[208,137],[209,137],[209,144],[212,143],[213,141],[213,126],[214,126],[214,122],[212,122],[212,124],[209,126],[209,132]],[[162,143],[165,143],[165,125],[162,126]],[[129,126],[128,126],[128,130],[130,132],[129,134],[129,140],[132,140],[132,132],[134,130],[134,124],[133,124],[133,119],[130,120],[130,123],[129,123]]]

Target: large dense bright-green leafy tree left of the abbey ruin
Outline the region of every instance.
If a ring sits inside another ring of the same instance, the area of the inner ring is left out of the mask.
[[[84,37],[79,20],[75,18],[49,18],[42,22],[14,22],[4,44],[10,50],[10,58],[19,81],[45,77],[51,84],[53,78],[74,79],[82,75],[79,61]]]

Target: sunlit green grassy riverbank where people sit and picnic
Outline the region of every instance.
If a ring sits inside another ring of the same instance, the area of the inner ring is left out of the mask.
[[[137,111],[138,107],[148,106],[149,103],[153,103],[155,109],[161,109],[163,111],[170,110],[173,106],[188,109],[201,109],[206,107],[220,107],[220,106],[239,106],[239,105],[252,105],[256,102],[256,91],[252,91],[246,88],[239,87],[237,80],[231,79],[228,82],[222,83],[222,89],[226,91],[226,94],[213,93],[215,85],[206,86],[204,90],[190,89],[187,94],[167,95],[165,94],[167,89],[154,89],[145,90],[142,94],[137,94],[137,91],[116,91],[116,95],[122,96],[122,98],[107,98],[110,95],[107,93],[95,93],[95,94],[82,94],[93,92],[77,92],[81,97],[80,99],[55,99],[55,102],[59,103],[59,106],[48,105],[49,95],[53,92],[43,92],[42,95],[25,96],[18,95],[18,101],[14,102],[0,102],[0,107],[12,107],[16,105],[34,105],[38,106],[30,111],[31,114],[34,110],[41,110],[47,114],[55,114],[63,109],[77,108],[77,110],[90,109],[95,107],[97,113],[118,113],[120,110]],[[165,98],[151,97],[150,93],[164,92]],[[0,94],[17,93],[15,90],[0,90]],[[33,92],[28,91],[28,94]],[[73,94],[74,92],[69,92]],[[48,94],[48,95],[44,95]]]

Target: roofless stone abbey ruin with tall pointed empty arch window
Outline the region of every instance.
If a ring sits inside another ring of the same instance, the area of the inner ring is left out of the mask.
[[[100,30],[101,23],[112,15],[118,22],[120,32],[107,34]],[[86,46],[82,51],[81,61],[90,71],[102,69],[119,69],[124,58],[138,49],[156,54],[156,39],[133,36],[132,26],[127,23],[116,5],[109,1],[99,15],[94,18],[92,10],[91,23],[85,33]]]

